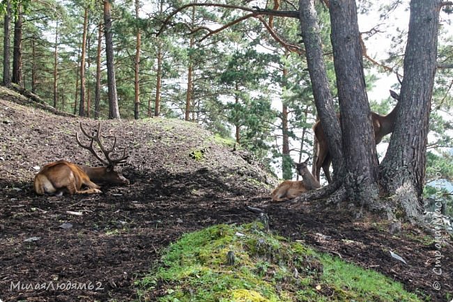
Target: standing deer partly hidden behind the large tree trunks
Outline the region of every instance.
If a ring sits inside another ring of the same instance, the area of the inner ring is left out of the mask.
[[[395,100],[399,100],[399,95],[393,90],[390,90],[390,95],[392,95]],[[373,122],[374,130],[374,141],[376,141],[376,145],[378,143],[381,143],[384,136],[393,132],[398,108],[399,103],[394,106],[394,109],[390,113],[388,113],[387,116],[381,116],[376,112],[371,112],[371,120]],[[340,113],[337,113],[337,119],[338,121],[340,120]],[[330,157],[327,140],[325,138],[323,127],[321,127],[321,122],[319,120],[314,123],[313,132],[316,138],[315,141],[318,144],[318,157],[316,158],[316,163],[314,163],[313,165],[313,174],[316,177],[316,180],[319,181],[319,174],[321,173],[321,168],[323,168],[325,178],[328,182],[332,182],[329,171],[330,164],[332,163],[332,157]]]

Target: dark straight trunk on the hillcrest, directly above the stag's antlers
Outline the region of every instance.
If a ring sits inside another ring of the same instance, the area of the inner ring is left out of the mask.
[[[118,96],[116,95],[116,78],[112,33],[112,5],[104,0],[105,54],[107,56],[107,88],[109,90],[109,118],[120,118]]]

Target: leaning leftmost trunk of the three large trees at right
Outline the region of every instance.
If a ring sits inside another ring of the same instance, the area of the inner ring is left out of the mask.
[[[314,0],[300,0],[300,27],[305,45],[305,56],[313,87],[313,97],[321,126],[328,137],[328,148],[332,154],[334,180],[344,176],[344,160],[341,151],[341,132],[335,107],[330,93],[327,74],[325,73],[324,54],[321,48],[321,29],[318,26],[318,15]]]

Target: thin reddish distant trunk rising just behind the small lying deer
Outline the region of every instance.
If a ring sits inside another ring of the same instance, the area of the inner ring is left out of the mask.
[[[288,53],[285,54],[288,56]],[[283,68],[283,90],[287,87],[288,68]],[[282,175],[284,180],[293,178],[293,160],[289,154],[289,126],[288,126],[288,106],[286,100],[282,102]]]

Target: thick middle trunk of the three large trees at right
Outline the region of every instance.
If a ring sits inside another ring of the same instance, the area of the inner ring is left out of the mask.
[[[378,198],[378,161],[365,91],[355,0],[330,2],[332,48],[337,76],[348,197],[373,205]]]

